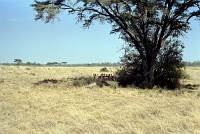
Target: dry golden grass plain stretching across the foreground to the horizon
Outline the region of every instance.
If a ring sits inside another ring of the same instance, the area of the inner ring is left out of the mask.
[[[100,68],[0,66],[0,134],[200,134],[200,67],[176,91],[68,82]]]

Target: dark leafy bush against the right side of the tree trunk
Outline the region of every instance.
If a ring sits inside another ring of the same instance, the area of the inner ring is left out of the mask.
[[[158,56],[155,68],[155,85],[162,88],[180,88],[184,67],[182,61],[183,45],[179,41],[166,42]]]

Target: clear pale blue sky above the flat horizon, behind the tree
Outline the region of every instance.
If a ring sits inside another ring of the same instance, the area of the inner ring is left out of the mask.
[[[124,42],[110,35],[111,27],[95,23],[83,29],[75,17],[62,13],[60,20],[34,21],[33,0],[0,0],[0,62],[97,63],[120,61]],[[200,23],[187,33],[184,60],[200,60]]]

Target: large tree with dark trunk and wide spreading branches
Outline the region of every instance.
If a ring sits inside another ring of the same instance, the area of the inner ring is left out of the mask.
[[[84,27],[96,20],[109,23],[111,33],[120,33],[139,55],[144,88],[154,86],[154,65],[165,42],[182,36],[190,20],[200,17],[200,0],[35,0],[32,7],[35,19],[47,23],[65,10]]]

